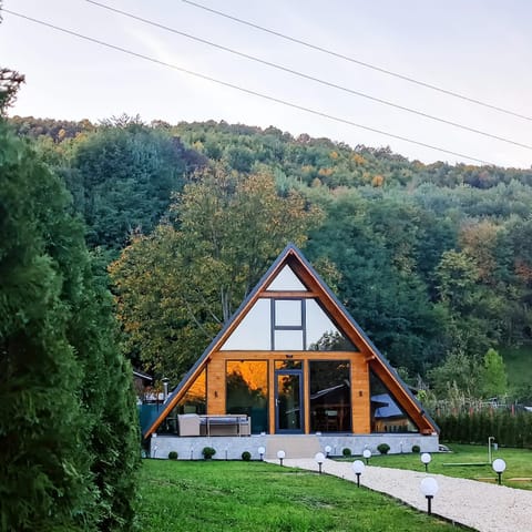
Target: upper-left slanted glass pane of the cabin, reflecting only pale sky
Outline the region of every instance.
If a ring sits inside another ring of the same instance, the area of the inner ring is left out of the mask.
[[[272,349],[270,299],[258,299],[238,327],[222,346],[222,350]]]

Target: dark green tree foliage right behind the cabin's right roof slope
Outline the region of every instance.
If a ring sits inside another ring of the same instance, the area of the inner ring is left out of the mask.
[[[382,221],[387,207],[374,207],[356,192],[330,201],[326,222],[311,234],[309,256],[325,255],[336,265],[342,303],[392,364],[419,371],[441,356],[443,316],[407,252],[417,245],[413,224],[403,216],[391,229]]]

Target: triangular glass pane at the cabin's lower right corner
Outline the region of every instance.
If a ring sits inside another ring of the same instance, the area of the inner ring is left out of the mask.
[[[385,383],[370,371],[371,432],[419,432]]]

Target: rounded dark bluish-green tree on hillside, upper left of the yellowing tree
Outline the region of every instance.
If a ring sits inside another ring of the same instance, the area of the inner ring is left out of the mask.
[[[178,140],[136,122],[79,141],[66,181],[89,244],[120,249],[131,233],[150,232],[183,186],[184,152]]]

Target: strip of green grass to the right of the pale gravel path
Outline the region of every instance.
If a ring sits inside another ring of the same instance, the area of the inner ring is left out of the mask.
[[[491,466],[444,466],[446,463],[479,463],[488,462],[488,442],[485,446],[450,444],[451,453],[433,453],[429,464],[429,472],[458,477],[461,479],[497,479]],[[492,460],[502,458],[507,462],[507,470],[502,475],[504,485],[532,490],[532,481],[511,481],[512,478],[532,478],[532,450],[499,448],[492,452]],[[370,466],[382,468],[410,469],[424,471],[420,454],[381,454],[371,457]]]

